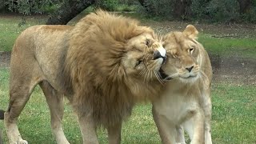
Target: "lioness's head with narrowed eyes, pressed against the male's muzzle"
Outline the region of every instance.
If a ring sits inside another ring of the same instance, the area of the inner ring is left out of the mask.
[[[183,32],[171,32],[163,38],[167,60],[161,75],[166,81],[179,78],[182,82],[193,82],[200,75],[202,45],[196,41],[198,30],[192,25]]]

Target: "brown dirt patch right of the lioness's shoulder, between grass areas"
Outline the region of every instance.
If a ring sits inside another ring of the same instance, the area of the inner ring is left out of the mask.
[[[256,61],[253,59],[209,54],[215,82],[232,82],[237,85],[256,86]]]

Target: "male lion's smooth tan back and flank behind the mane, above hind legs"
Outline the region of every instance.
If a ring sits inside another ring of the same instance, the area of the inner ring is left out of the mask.
[[[37,73],[38,77],[42,75],[56,90],[61,90],[58,70],[61,69],[62,55],[68,47],[68,33],[72,28],[38,25],[24,30],[14,43],[10,59],[11,75],[15,78],[17,74]]]

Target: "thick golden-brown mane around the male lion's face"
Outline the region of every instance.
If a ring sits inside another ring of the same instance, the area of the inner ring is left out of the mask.
[[[145,85],[126,75],[121,65],[122,57],[132,48],[126,46],[127,40],[144,32],[153,30],[102,10],[74,26],[62,70],[62,83],[72,95],[68,98],[74,110],[93,114],[97,125],[110,126],[130,116],[138,99],[157,95],[158,82]],[[140,95],[134,95],[131,86],[137,86]]]

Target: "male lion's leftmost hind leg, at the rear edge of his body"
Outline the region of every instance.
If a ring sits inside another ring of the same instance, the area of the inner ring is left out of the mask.
[[[26,102],[29,100],[34,87],[38,82],[42,81],[42,78],[33,76],[33,74],[30,74],[30,70],[27,70],[27,74],[25,74],[26,77],[19,72],[19,70],[13,70],[11,73],[10,102],[8,110],[6,110],[6,113],[4,114],[4,122],[9,142],[26,144],[26,140],[22,139],[21,134],[18,131],[17,120],[19,114],[21,114],[26,105]]]

